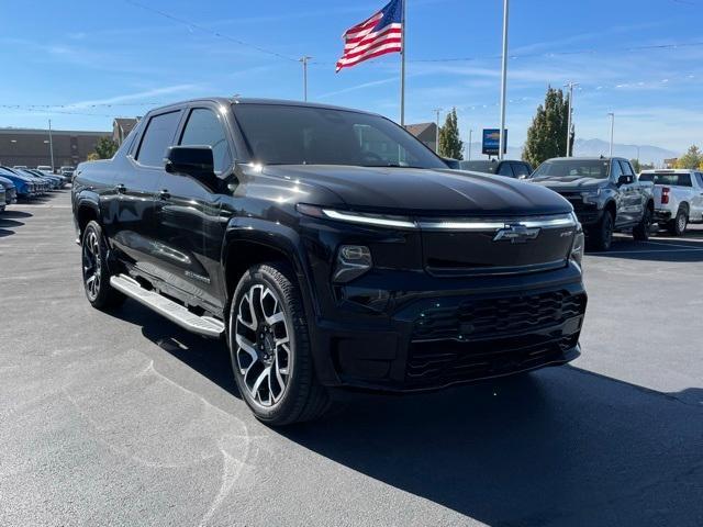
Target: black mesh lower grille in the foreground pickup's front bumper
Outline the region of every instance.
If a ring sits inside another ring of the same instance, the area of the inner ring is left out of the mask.
[[[476,299],[426,310],[415,321],[413,340],[499,337],[554,326],[585,311],[585,295],[568,291]]]

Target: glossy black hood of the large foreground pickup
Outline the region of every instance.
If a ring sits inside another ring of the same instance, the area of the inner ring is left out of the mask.
[[[337,165],[268,166],[265,173],[326,188],[350,209],[402,214],[560,214],[571,205],[540,186],[477,172]],[[325,203],[316,203],[324,205]]]

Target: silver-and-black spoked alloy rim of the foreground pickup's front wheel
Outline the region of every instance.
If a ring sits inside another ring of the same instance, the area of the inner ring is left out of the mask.
[[[236,309],[236,366],[254,403],[271,407],[286,394],[292,367],[289,323],[276,292],[257,283]]]

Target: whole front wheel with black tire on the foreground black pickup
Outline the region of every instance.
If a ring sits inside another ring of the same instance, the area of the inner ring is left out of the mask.
[[[239,279],[230,307],[227,339],[237,388],[254,415],[270,426],[316,419],[331,405],[327,390],[315,377],[305,312],[300,289],[292,277],[284,264],[253,266]],[[267,302],[263,299],[268,299],[269,313],[264,311]],[[271,304],[274,301],[276,303]],[[270,307],[278,306],[278,302],[279,307]],[[277,309],[282,318],[269,324],[267,316],[270,319],[280,317]],[[272,338],[265,337],[266,334]],[[286,338],[287,349],[271,343]],[[282,367],[279,360],[283,362]],[[268,380],[257,384],[267,368]],[[279,372],[283,370],[287,373],[282,374],[286,379],[281,384]],[[261,386],[264,382],[268,382],[268,388]],[[267,401],[264,400],[266,392]]]

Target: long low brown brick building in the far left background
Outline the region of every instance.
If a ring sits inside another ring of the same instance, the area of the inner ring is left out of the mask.
[[[100,137],[111,132],[52,131],[54,166],[76,166],[96,149]],[[0,128],[0,165],[52,165],[48,130]]]

